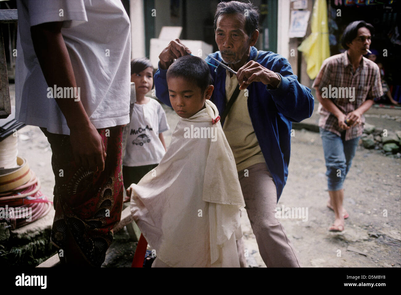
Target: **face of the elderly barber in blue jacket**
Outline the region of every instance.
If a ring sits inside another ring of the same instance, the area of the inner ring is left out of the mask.
[[[239,63],[250,48],[251,38],[245,31],[245,16],[241,13],[219,16],[215,39],[223,61],[227,64]]]

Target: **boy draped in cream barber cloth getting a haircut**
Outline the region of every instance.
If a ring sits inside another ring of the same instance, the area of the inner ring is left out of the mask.
[[[152,267],[239,267],[240,208],[233,153],[219,122],[207,63],[191,55],[167,72],[181,117],[160,164],[127,190],[131,213],[151,249]]]

